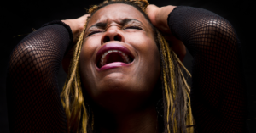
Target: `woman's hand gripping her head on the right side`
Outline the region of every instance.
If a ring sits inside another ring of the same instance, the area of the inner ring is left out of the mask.
[[[186,55],[186,47],[183,42],[178,40],[175,36],[172,35],[172,32],[167,24],[168,15],[176,6],[166,6],[166,7],[157,7],[154,4],[149,4],[146,8],[146,13],[152,24],[160,30],[162,35],[166,38],[166,41],[169,42],[172,50],[177,54],[177,57],[183,61]]]

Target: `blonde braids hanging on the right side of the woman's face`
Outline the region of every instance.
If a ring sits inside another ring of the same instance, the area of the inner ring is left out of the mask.
[[[157,31],[158,41],[160,44],[160,54],[162,60],[162,73],[163,73],[163,87],[165,88],[165,95],[166,95],[166,131],[168,133],[179,132],[177,128],[177,102],[174,102],[177,98],[177,86],[182,86],[183,91],[183,98],[184,98],[184,106],[183,106],[183,119],[185,120],[185,125],[193,125],[193,116],[190,106],[190,87],[186,82],[183,72],[180,69],[179,65],[176,65],[174,62],[180,64],[183,69],[190,75],[189,71],[183,66],[179,58],[177,58],[176,53],[172,51],[172,48],[169,47],[168,43],[166,42],[165,38],[161,36],[160,32]],[[176,74],[177,73],[177,74]],[[176,75],[180,75],[177,77]],[[191,76],[191,75],[190,75]],[[169,80],[168,80],[169,79]],[[180,79],[183,81],[183,85],[177,85],[177,80]],[[188,99],[188,102],[187,102]],[[184,131],[183,131],[184,132]],[[193,133],[193,127],[187,128],[187,132]]]

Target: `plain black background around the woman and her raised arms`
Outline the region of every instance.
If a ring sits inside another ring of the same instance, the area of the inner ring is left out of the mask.
[[[0,43],[0,133],[9,132],[7,108],[6,108],[6,69],[11,50],[18,44],[24,36],[38,29],[41,25],[61,19],[76,19],[86,14],[84,8],[89,8],[92,4],[101,3],[100,0],[21,0],[0,2],[1,14],[1,43]],[[243,71],[247,83],[247,132],[256,132],[256,17],[254,0],[148,0],[149,3],[159,7],[166,5],[185,5],[195,8],[205,8],[225,19],[235,27],[236,34],[242,44]],[[14,37],[16,36],[16,37]],[[183,64],[191,72],[192,57],[187,52]],[[66,74],[61,69],[59,74],[60,85],[63,85]],[[61,88],[60,86],[60,88]]]

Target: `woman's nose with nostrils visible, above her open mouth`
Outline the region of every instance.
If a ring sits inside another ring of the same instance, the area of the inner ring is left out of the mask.
[[[108,29],[102,36],[102,44],[110,41],[125,42],[125,37],[118,29]]]

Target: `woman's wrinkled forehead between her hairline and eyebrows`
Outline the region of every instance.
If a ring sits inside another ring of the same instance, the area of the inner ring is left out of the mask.
[[[104,8],[96,11],[90,18],[88,26],[93,25],[98,22],[116,22],[119,23],[122,19],[137,19],[143,23],[143,25],[148,25],[148,20],[145,19],[144,15],[137,10],[137,8],[125,3],[113,3]]]

